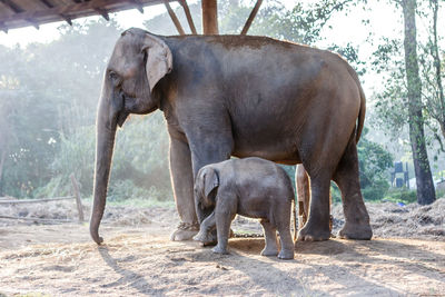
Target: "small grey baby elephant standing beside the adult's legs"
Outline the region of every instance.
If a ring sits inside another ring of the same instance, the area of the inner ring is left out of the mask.
[[[266,247],[263,256],[277,256],[278,229],[281,250],[280,259],[294,258],[294,242],[290,235],[290,208],[294,190],[285,170],[271,161],[260,158],[231,159],[202,167],[195,181],[195,206],[215,207],[201,222],[194,239],[209,240],[217,229],[218,245],[214,253],[226,254],[230,222],[235,216],[259,218],[263,225]]]

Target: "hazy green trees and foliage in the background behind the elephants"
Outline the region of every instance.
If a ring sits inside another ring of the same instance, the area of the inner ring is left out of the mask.
[[[397,17],[403,18],[402,2],[387,2],[393,3],[399,13]],[[426,2],[416,10],[417,18],[427,28],[422,31],[417,46],[421,78],[426,86],[421,99],[433,172],[439,172],[445,169],[439,164],[444,151],[443,133],[433,103],[441,103],[437,83],[443,80],[443,75],[437,79],[437,59],[432,51],[437,50],[443,61],[444,50],[438,46],[441,36],[439,42],[434,43],[433,23],[429,22],[435,1]],[[373,59],[365,61],[354,40],[345,47],[329,44],[323,33],[333,26],[332,19],[342,18],[357,7],[366,10],[366,1],[318,0],[291,9],[279,1],[267,1],[249,33],[312,46],[328,43],[327,48],[343,55],[362,79],[369,72],[386,78],[383,89],[367,95],[367,128],[358,146],[362,189],[366,200],[415,201],[415,191],[389,189],[393,161],[411,160],[403,39],[366,32],[375,52]],[[238,33],[250,9],[248,1],[219,1],[220,32]],[[192,4],[190,10],[200,31],[200,6]],[[177,12],[181,23],[186,24],[181,11]],[[166,13],[146,21],[145,26],[155,33],[176,33]],[[115,21],[91,20],[73,27],[61,26],[59,30],[61,37],[50,43],[33,43],[26,48],[0,46],[0,196],[65,195],[70,191],[71,172],[79,180],[82,195],[91,196],[96,106],[103,69],[123,29]],[[399,30],[402,32],[403,27]],[[171,200],[168,146],[160,111],[134,116],[127,121],[117,136],[110,199]],[[286,167],[286,170],[294,179],[295,169]],[[411,170],[413,177],[413,168]],[[340,199],[335,187],[333,197]]]

